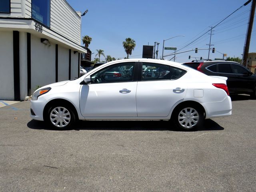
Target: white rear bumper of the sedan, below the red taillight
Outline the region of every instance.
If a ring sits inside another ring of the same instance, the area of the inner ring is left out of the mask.
[[[232,102],[230,96],[221,102],[201,103],[206,112],[206,119],[228,116],[232,114]]]

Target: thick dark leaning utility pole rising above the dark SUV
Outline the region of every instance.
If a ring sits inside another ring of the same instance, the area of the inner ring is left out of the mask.
[[[249,24],[248,24],[248,28],[247,28],[246,40],[245,40],[245,45],[244,45],[244,53],[243,53],[243,59],[242,59],[243,66],[247,66],[248,52],[249,52],[249,48],[250,48],[250,40],[251,40],[251,35],[252,35],[252,26],[253,26],[253,20],[254,20],[255,7],[256,7],[256,0],[252,0],[250,19],[249,19]]]

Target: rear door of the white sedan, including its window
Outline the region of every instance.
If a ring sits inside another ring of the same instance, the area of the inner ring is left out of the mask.
[[[185,70],[168,65],[143,62],[147,73],[138,81],[136,104],[138,117],[166,117],[172,106],[186,94],[186,83],[180,77]]]

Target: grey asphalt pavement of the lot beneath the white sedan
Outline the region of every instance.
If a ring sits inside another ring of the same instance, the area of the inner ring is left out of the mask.
[[[79,122],[57,131],[30,102],[0,108],[0,191],[256,191],[256,100],[193,132],[163,121]]]

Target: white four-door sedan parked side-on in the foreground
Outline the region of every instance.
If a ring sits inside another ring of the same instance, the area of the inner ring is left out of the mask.
[[[44,86],[31,98],[31,117],[57,129],[70,129],[76,120],[172,120],[191,130],[231,111],[226,80],[155,59],[108,62],[78,79]]]

